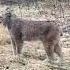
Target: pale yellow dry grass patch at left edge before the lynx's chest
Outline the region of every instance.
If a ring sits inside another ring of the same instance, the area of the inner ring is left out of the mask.
[[[0,45],[5,45],[10,43],[10,35],[7,30],[2,24],[0,24]]]

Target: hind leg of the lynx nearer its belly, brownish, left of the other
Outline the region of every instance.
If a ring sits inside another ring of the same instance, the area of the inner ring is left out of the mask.
[[[49,58],[49,62],[51,63],[52,61],[54,61],[54,45],[51,42],[47,41],[44,41],[43,45],[47,53],[47,56]]]

